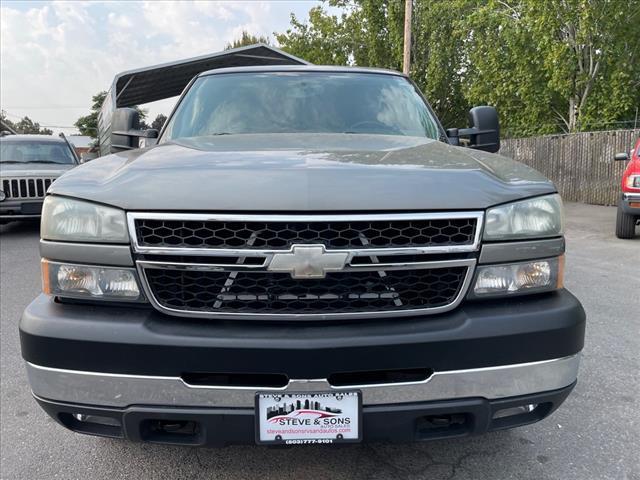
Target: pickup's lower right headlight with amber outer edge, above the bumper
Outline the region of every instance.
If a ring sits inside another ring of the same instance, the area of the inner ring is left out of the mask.
[[[564,256],[503,265],[481,265],[470,297],[517,295],[562,288]]]

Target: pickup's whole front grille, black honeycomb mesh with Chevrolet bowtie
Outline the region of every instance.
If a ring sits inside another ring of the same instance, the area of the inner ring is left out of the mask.
[[[481,212],[128,215],[140,278],[158,310],[295,320],[455,308],[473,276],[483,219]]]

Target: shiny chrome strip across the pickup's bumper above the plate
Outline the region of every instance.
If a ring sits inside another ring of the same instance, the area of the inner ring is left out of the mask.
[[[326,379],[292,379],[282,388],[191,386],[179,377],[119,375],[42,367],[27,362],[33,393],[41,398],[96,405],[253,407],[257,391],[361,390],[364,405],[514,397],[566,387],[578,376],[580,354],[515,365],[436,372],[411,383],[334,387]]]

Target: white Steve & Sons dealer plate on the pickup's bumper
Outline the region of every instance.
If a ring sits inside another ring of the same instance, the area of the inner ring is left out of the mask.
[[[353,443],[362,439],[360,392],[258,393],[256,442]]]

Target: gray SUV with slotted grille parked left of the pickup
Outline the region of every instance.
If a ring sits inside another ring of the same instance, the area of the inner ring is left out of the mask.
[[[53,181],[79,163],[64,137],[0,137],[0,224],[40,217]]]

